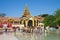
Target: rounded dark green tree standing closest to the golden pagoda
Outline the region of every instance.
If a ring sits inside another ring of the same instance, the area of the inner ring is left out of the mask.
[[[55,17],[53,15],[48,15],[44,18],[43,23],[45,26],[54,26],[55,22]]]

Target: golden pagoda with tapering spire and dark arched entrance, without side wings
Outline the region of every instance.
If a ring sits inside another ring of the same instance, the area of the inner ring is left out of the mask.
[[[31,16],[28,6],[26,5],[20,22],[22,22],[22,24],[24,24],[26,27],[32,27],[37,25],[37,22],[34,21],[37,20],[34,19],[34,16]]]

